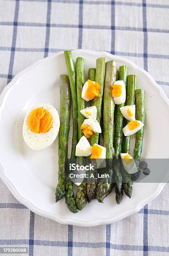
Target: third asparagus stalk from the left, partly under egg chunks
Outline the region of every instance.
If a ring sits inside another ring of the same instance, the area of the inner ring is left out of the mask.
[[[81,57],[77,57],[76,60],[76,87],[77,87],[77,115],[78,115],[78,139],[83,136],[82,130],[80,129],[84,116],[80,113],[80,110],[85,108],[85,100],[82,99],[82,87],[85,84],[85,61]],[[82,161],[83,157],[78,157],[79,164]],[[87,194],[86,194],[86,182],[82,182],[77,188],[77,194],[75,197],[77,209],[82,210],[87,203]]]

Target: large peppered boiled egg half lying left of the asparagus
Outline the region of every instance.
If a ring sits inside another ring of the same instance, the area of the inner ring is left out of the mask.
[[[41,150],[55,141],[59,128],[57,110],[52,105],[38,103],[27,111],[23,123],[23,138],[27,146]]]

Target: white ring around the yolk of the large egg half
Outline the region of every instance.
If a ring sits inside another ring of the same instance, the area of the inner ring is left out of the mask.
[[[45,108],[52,115],[52,128],[47,133],[34,133],[30,130],[27,123],[27,118],[30,115],[31,111],[35,108]],[[32,108],[30,108],[25,116],[25,120],[23,122],[23,138],[27,146],[32,148],[33,150],[42,150],[55,141],[57,134],[60,128],[60,118],[57,113],[57,110],[50,104],[45,103],[37,103]]]

